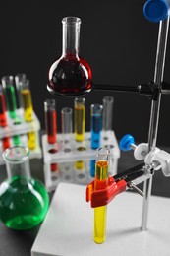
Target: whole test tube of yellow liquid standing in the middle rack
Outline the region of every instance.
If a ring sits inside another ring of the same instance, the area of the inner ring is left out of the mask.
[[[78,142],[85,139],[85,97],[75,98],[75,139]]]

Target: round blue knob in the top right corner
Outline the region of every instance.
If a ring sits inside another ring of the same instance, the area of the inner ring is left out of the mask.
[[[168,16],[169,0],[147,0],[143,6],[143,14],[150,22],[158,23]]]

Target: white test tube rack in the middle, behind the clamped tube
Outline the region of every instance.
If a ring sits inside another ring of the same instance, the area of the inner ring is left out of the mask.
[[[70,141],[63,143],[63,134],[57,134],[57,142],[49,144],[47,135],[42,136],[45,186],[48,191],[54,190],[59,182],[88,184],[90,162],[95,160],[95,150],[90,147],[90,132],[85,132],[85,140],[77,142],[75,134],[69,134]],[[110,174],[117,173],[120,150],[114,131],[101,131],[101,146],[110,150]],[[77,163],[83,161],[84,167],[78,168]],[[57,171],[51,171],[51,164],[57,163]]]

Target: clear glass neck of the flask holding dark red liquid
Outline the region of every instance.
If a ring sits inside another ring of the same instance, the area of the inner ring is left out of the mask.
[[[79,57],[81,20],[77,17],[66,17],[63,23],[63,57]]]

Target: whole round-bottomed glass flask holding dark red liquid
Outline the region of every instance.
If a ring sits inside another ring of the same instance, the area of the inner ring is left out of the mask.
[[[53,95],[83,95],[92,89],[92,73],[79,56],[81,19],[66,17],[62,24],[62,56],[49,69],[47,89]]]

